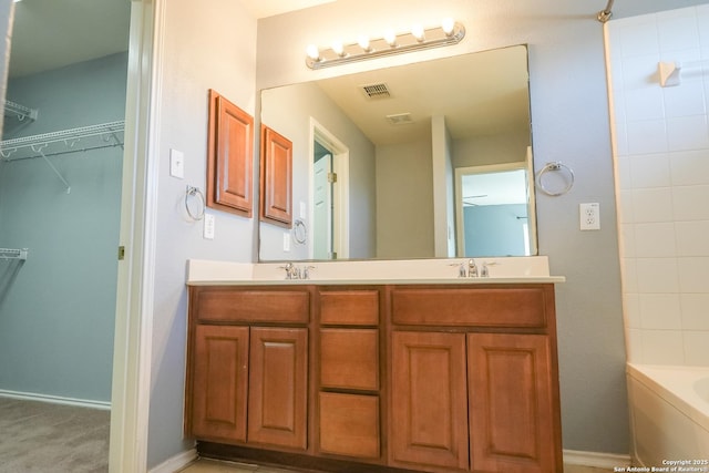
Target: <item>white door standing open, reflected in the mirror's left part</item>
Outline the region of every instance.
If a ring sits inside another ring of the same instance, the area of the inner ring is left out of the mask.
[[[314,167],[312,247],[315,259],[330,259],[332,254],[332,155],[326,154]]]

